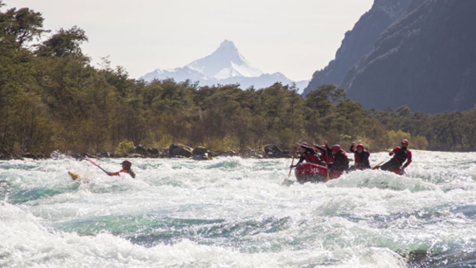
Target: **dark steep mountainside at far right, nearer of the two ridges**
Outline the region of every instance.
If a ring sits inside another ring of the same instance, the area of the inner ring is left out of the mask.
[[[340,87],[365,108],[423,112],[476,103],[476,1],[415,0]]]

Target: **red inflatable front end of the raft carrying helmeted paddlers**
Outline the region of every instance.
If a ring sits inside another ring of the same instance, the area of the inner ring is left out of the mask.
[[[327,181],[327,167],[312,163],[301,163],[296,167],[294,175],[299,182],[326,182]],[[329,171],[329,179],[335,179],[342,175],[342,171]]]

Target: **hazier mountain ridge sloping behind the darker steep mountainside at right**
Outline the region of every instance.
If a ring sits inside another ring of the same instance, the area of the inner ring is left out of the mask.
[[[322,70],[314,72],[303,96],[325,84],[339,85],[344,75],[354,64],[369,53],[382,33],[408,8],[411,0],[375,0],[372,8],[345,33],[334,60]]]

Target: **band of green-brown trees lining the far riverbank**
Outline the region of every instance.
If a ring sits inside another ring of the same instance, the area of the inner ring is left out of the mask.
[[[81,50],[88,38],[80,27],[47,32],[43,20],[27,8],[0,12],[4,156],[114,151],[123,141],[243,151],[266,143],[291,149],[296,141],[324,139],[347,147],[356,140],[380,150],[410,138],[413,148],[476,149],[474,110],[432,116],[408,110],[369,113],[332,85],[302,99],[295,88],[280,83],[247,91],[190,81],[144,83],[130,79],[124,67],[111,67],[107,58],[94,67]],[[44,42],[37,41],[40,35],[47,37]]]

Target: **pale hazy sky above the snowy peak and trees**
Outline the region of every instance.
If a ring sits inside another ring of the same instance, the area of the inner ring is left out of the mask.
[[[181,67],[212,53],[223,40],[263,72],[310,79],[335,56],[373,0],[4,0],[6,9],[41,12],[56,32],[73,25],[89,42],[93,63],[109,56],[112,66],[138,78],[156,68]]]

